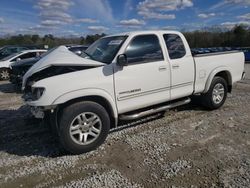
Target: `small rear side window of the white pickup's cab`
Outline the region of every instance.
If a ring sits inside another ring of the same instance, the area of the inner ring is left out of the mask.
[[[179,35],[164,34],[163,38],[167,46],[170,59],[180,59],[186,55],[185,45]]]

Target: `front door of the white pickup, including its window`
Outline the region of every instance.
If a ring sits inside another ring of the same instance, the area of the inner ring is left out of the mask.
[[[157,35],[137,35],[124,54],[128,65],[115,64],[114,83],[118,113],[170,99],[170,68]]]

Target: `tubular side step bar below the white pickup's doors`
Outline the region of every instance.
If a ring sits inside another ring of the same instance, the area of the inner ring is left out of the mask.
[[[181,105],[185,105],[185,104],[188,104],[190,102],[191,102],[191,99],[186,98],[182,101],[178,101],[178,102],[168,104],[165,106],[155,107],[155,108],[152,108],[150,110],[143,111],[143,112],[139,112],[139,113],[135,113],[135,114],[128,114],[128,115],[123,114],[119,117],[119,119],[124,120],[124,121],[135,120],[135,119],[139,119],[139,118],[142,118],[142,117],[145,117],[145,116],[148,116],[151,114],[155,114],[158,112],[164,112],[168,109],[175,108],[175,107],[181,106]]]

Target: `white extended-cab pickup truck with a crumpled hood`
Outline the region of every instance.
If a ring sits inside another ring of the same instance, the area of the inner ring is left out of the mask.
[[[196,96],[221,107],[244,77],[237,51],[192,55],[175,31],[107,36],[82,56],[59,47],[25,74],[24,100],[37,118],[50,117],[73,154],[102,144],[118,120],[134,120],[187,104]]]

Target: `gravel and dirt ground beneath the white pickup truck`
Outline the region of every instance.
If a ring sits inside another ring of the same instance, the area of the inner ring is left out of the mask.
[[[66,155],[1,82],[0,187],[249,187],[249,81],[219,110],[187,105],[131,122],[78,156]]]

